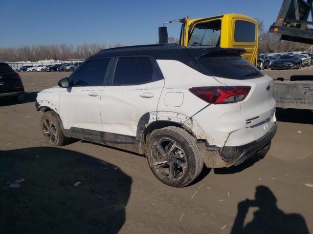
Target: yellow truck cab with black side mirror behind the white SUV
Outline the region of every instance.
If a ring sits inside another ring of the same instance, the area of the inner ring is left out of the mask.
[[[168,43],[166,23],[181,22],[179,44],[182,46],[217,46],[244,48],[242,55],[253,65],[257,65],[258,22],[240,14],[164,22],[159,27],[159,43]]]

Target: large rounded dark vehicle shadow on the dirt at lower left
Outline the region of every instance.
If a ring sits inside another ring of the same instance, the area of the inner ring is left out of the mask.
[[[132,178],[93,156],[31,147],[0,150],[0,186],[0,233],[117,234]]]

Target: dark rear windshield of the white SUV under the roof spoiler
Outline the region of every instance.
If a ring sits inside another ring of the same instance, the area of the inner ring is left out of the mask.
[[[251,79],[264,76],[243,57],[202,57],[199,62],[214,77]]]

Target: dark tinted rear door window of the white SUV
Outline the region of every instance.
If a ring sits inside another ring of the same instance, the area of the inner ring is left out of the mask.
[[[154,65],[149,57],[120,57],[112,85],[136,85],[156,81]]]

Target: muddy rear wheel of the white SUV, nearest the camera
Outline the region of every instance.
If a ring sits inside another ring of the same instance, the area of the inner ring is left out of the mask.
[[[196,139],[179,127],[165,127],[154,132],[147,145],[148,164],[164,184],[184,187],[201,173],[203,159]]]

